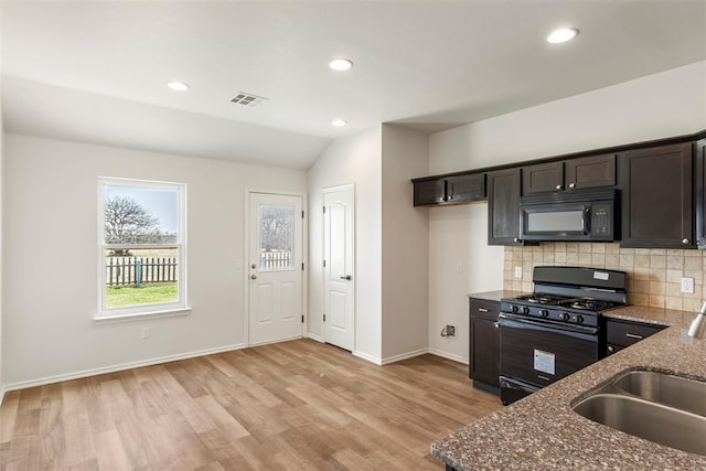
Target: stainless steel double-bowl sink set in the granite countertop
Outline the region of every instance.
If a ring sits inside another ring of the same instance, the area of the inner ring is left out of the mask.
[[[574,410],[598,424],[706,456],[706,382],[667,373],[621,373]]]

